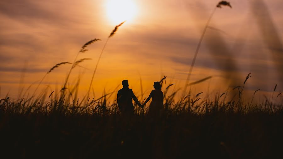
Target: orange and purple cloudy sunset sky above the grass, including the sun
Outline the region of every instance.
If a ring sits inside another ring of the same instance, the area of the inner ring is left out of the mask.
[[[93,89],[101,96],[129,80],[146,95],[153,82],[168,76],[167,85],[183,87],[203,28],[219,0],[1,0],[0,1],[0,98],[16,97],[20,87],[42,79],[56,63],[73,62],[80,47],[99,38],[80,53],[92,58],[75,68],[69,80],[81,77],[80,93],[86,94],[92,72],[110,32],[122,21],[103,52]],[[230,0],[232,8],[217,8],[197,55],[191,82],[213,76],[194,86],[198,92],[240,85],[248,73],[247,90],[283,88],[281,0]],[[41,85],[58,89],[71,65],[47,75]],[[228,80],[227,78],[232,79]],[[21,82],[20,82],[21,81]],[[22,83],[20,85],[20,83]],[[121,88],[120,86],[119,88]]]

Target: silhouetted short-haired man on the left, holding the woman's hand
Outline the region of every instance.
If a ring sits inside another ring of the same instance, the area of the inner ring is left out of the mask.
[[[123,88],[120,89],[117,94],[117,103],[119,110],[122,114],[134,114],[134,105],[132,98],[138,106],[142,107],[142,104],[134,95],[133,90],[129,89],[128,80],[123,80],[122,85]]]

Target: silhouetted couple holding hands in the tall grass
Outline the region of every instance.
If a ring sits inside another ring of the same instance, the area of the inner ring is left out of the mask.
[[[133,90],[129,88],[128,80],[122,81],[123,88],[118,91],[117,103],[121,114],[134,114],[134,105],[132,99],[138,106],[143,108],[145,104],[152,98],[152,102],[149,105],[149,114],[158,114],[163,109],[163,92],[161,91],[161,85],[159,82],[154,82],[153,88],[147,100],[141,104],[133,93]]]

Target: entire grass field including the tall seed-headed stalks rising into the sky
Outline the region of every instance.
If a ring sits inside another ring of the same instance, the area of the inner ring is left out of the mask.
[[[221,1],[215,9],[221,6],[231,8],[230,3]],[[189,83],[210,18],[194,53],[182,96],[176,96],[179,90],[171,91],[174,84],[163,85],[164,109],[159,113],[148,114],[148,107],[142,109],[135,104],[133,115],[121,115],[116,100],[109,100],[116,96],[118,87],[108,94],[104,91],[100,98],[91,95],[103,50],[122,22],[108,36],[82,99],[78,97],[80,78],[70,86],[69,77],[73,69],[91,60],[78,56],[100,41],[97,38],[80,48],[73,63],[51,67],[31,96],[26,95],[30,86],[21,90],[20,99],[1,99],[1,158],[283,158],[283,105],[281,93],[275,93],[277,85],[261,101],[254,101],[258,90],[251,99],[245,95],[250,74],[241,86],[219,95],[191,92],[191,85],[212,77]],[[70,70],[60,91],[37,93],[48,74],[68,64]],[[161,85],[165,79],[160,80]]]

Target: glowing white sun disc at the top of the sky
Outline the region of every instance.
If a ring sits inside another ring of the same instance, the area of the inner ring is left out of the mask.
[[[137,14],[137,7],[134,0],[108,0],[106,12],[111,23],[116,25],[131,21]]]

